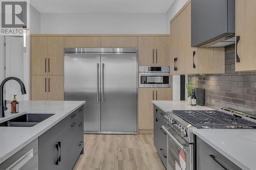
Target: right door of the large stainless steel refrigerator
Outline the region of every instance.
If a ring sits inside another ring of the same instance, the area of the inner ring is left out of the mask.
[[[101,55],[101,131],[137,131],[137,54]]]

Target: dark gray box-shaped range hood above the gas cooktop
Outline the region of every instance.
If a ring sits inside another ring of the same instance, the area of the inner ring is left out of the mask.
[[[191,0],[191,46],[224,47],[234,32],[235,0]]]

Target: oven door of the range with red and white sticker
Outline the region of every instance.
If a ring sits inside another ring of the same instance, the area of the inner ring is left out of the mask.
[[[169,126],[162,126],[167,134],[167,170],[194,169],[194,144],[186,142]]]

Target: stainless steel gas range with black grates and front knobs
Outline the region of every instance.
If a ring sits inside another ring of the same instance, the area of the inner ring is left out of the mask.
[[[256,129],[255,119],[227,109],[173,110],[168,114],[164,116],[167,125],[162,126],[168,135],[167,169],[196,169],[193,129]]]

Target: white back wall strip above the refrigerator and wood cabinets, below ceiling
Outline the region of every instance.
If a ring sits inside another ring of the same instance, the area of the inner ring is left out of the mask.
[[[41,34],[165,33],[165,13],[41,13]]]

